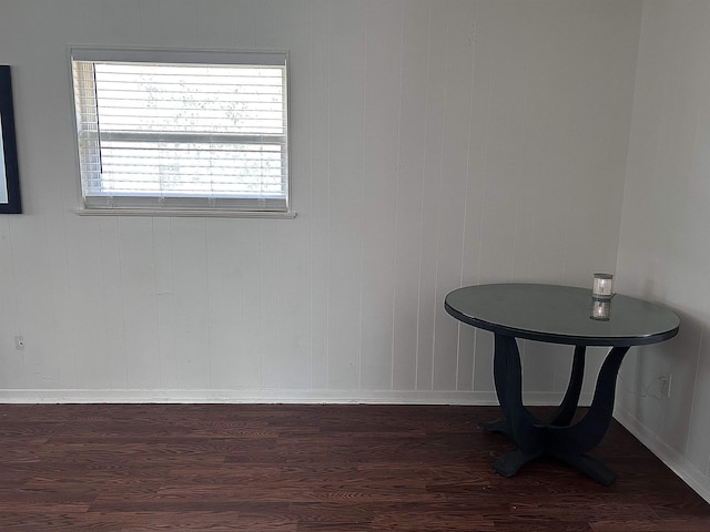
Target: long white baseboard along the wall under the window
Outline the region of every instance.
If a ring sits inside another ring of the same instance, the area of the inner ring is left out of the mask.
[[[526,405],[559,405],[557,392],[526,392]],[[591,397],[581,397],[588,405]],[[89,389],[6,389],[0,402],[70,403],[70,402],[262,402],[262,403],[403,403],[403,405],[471,405],[495,406],[494,391],[392,391],[392,390],[89,390]]]

